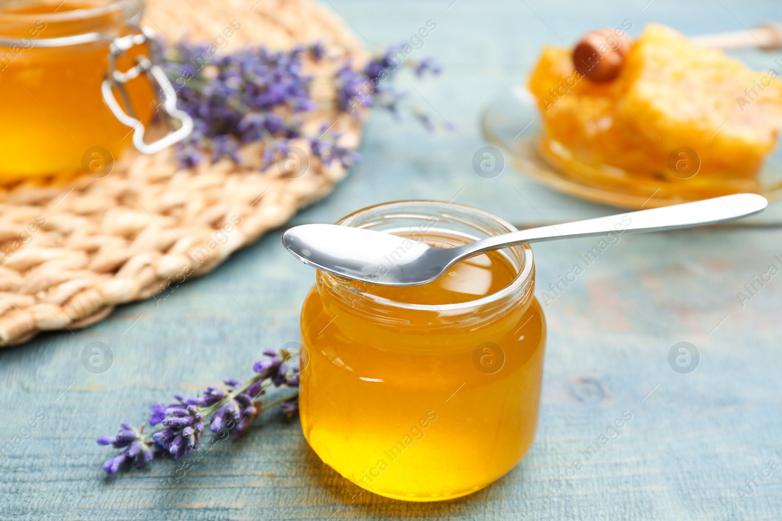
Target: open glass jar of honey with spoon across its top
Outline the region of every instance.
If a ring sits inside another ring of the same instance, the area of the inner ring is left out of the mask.
[[[440,248],[515,231],[482,210],[429,201],[372,206],[338,224]],[[318,271],[301,314],[310,446],[354,484],[407,501],[457,498],[508,473],[538,419],[546,323],[534,281],[529,244],[421,286]]]

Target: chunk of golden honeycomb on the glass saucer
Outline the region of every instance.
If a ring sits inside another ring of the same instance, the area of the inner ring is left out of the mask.
[[[544,140],[565,162],[572,155],[594,166],[670,177],[672,154],[687,147],[698,156],[692,159],[699,162],[699,177],[749,178],[777,141],[779,73],[750,70],[650,24],[615,80],[588,80],[574,70],[568,50],[545,48],[529,90],[540,108]]]

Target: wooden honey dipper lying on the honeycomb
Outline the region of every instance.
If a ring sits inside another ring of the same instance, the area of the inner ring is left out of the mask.
[[[782,24],[762,23],[750,30],[729,33],[705,34],[691,38],[696,44],[708,48],[733,49],[759,47],[765,50],[782,49]],[[611,29],[597,29],[584,35],[573,49],[573,66],[592,81],[613,80],[622,70],[630,37],[616,34]]]

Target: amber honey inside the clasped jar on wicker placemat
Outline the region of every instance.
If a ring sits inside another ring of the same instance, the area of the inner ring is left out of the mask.
[[[138,15],[138,5],[143,4],[0,1],[0,38],[18,44],[0,45],[0,183],[84,170],[95,159],[110,159],[91,152],[117,158],[131,146],[132,129],[103,102],[101,84],[109,68],[109,41],[131,31],[127,22]],[[45,47],[47,40],[93,32],[106,35],[106,41]],[[145,52],[131,48],[117,68],[131,68],[135,56]],[[138,77],[126,87],[139,119],[149,121],[154,110],[149,82]]]

